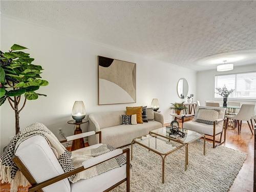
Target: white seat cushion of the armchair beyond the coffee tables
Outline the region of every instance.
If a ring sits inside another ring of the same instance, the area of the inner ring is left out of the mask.
[[[204,133],[206,135],[211,135],[211,136],[214,135],[214,125],[199,123],[194,120],[184,122],[183,128],[191,131],[195,131],[198,133]],[[222,132],[222,124],[218,123],[216,124],[215,134],[218,134],[220,132]]]

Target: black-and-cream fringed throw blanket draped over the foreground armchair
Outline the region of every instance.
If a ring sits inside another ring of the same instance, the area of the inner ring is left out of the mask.
[[[44,124],[33,123],[23,131],[19,132],[10,141],[3,155],[0,157],[0,180],[2,180],[2,183],[11,183],[11,190],[17,189],[20,185],[29,185],[29,182],[14,164],[12,158],[19,144],[34,135],[41,135],[45,137],[65,173],[82,166],[83,161],[115,150],[115,148],[110,145],[102,144],[97,148],[91,148],[89,150],[84,148],[84,150],[69,152]],[[80,179],[89,179],[107,172],[108,170],[120,167],[125,163],[126,157],[124,155],[120,155],[69,177],[69,181],[75,183]]]

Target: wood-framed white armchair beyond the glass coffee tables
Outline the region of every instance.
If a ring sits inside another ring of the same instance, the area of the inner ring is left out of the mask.
[[[205,124],[201,122],[197,122],[197,116],[199,109],[217,109],[219,110],[219,117],[214,121],[214,124]],[[212,147],[215,148],[215,142],[222,144],[226,141],[226,119],[225,119],[225,108],[217,108],[217,107],[211,107],[211,106],[197,106],[196,113],[194,120],[192,121],[186,121],[183,124],[183,127],[188,130],[196,131],[198,133],[204,133],[205,135],[212,136]],[[224,140],[222,141],[222,134],[224,132]],[[216,140],[216,136],[220,135],[220,140]]]

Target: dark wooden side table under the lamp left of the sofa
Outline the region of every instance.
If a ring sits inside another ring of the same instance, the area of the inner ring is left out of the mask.
[[[75,126],[76,126],[76,129],[74,131],[74,135],[82,133],[80,125],[83,124],[83,123],[87,123],[87,122],[88,122],[88,120],[86,120],[86,119],[83,119],[81,122],[76,122],[75,120],[68,121],[69,124],[75,124]],[[75,139],[72,142],[71,151],[79,150],[79,148],[83,148],[83,147],[84,147],[83,138]]]

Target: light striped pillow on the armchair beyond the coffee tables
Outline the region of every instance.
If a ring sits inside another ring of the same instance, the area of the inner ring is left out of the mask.
[[[197,115],[197,122],[205,124],[214,124],[219,118],[220,110],[200,108]]]

